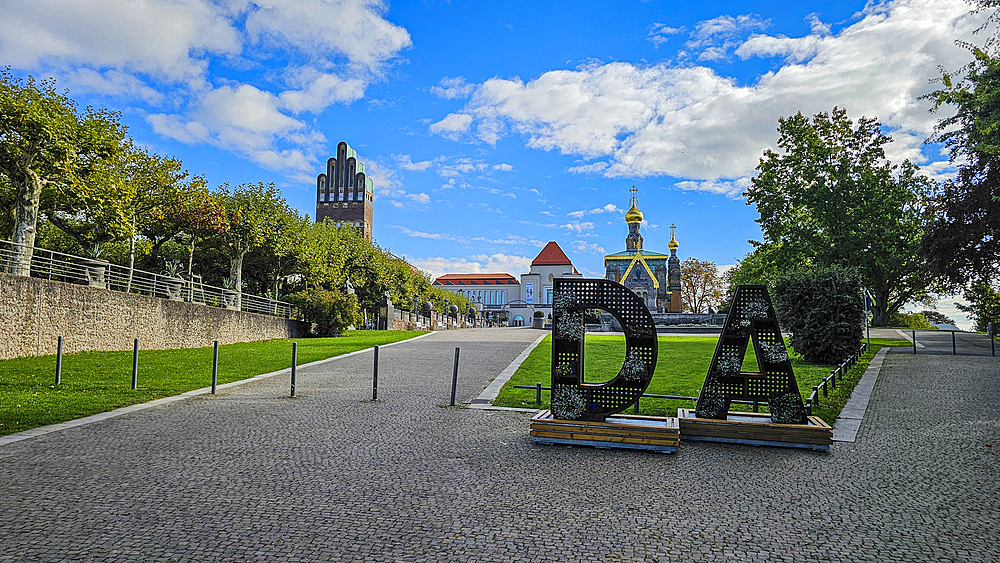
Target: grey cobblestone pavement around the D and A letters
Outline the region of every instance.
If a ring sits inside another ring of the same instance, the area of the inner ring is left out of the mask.
[[[538,446],[435,334],[0,448],[0,561],[997,561],[1000,358],[890,354],[828,453]],[[986,447],[991,444],[993,447]]]

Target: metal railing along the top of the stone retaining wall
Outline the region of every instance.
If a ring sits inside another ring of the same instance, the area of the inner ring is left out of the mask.
[[[201,282],[201,276],[192,276],[190,280],[175,278],[38,247],[31,249],[31,260],[26,264],[22,252],[26,248],[22,244],[0,241],[0,271],[209,307],[286,319],[299,318],[298,310],[290,303],[207,285]]]

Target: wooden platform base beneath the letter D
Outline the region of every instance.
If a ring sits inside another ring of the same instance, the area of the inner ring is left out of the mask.
[[[680,442],[680,427],[673,417],[616,414],[604,422],[589,422],[559,420],[546,410],[531,418],[531,440],[546,445],[569,444],[673,453]]]

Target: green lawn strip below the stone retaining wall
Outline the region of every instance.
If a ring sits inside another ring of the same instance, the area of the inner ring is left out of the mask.
[[[412,338],[417,331],[350,331],[339,338],[297,340],[298,364]],[[291,340],[219,346],[219,384],[291,367]],[[0,436],[144,403],[212,384],[212,347],[140,350],[139,388],[132,390],[132,351],[79,352],[0,361]]]

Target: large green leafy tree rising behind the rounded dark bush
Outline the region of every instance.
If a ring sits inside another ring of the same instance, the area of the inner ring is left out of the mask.
[[[851,267],[874,301],[873,324],[935,289],[920,253],[933,183],[909,161],[894,166],[877,119],[855,126],[834,108],[778,120],[778,147],[744,193],[779,263]]]

